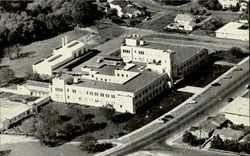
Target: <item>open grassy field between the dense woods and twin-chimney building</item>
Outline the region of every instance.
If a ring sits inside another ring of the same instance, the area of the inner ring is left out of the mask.
[[[0,66],[9,65],[9,67],[14,70],[17,77],[23,77],[25,76],[26,72],[32,71],[32,64],[50,55],[54,48],[61,45],[61,37],[67,36],[68,41],[72,41],[79,39],[86,34],[88,34],[86,31],[72,30],[47,40],[33,42],[22,47],[21,53],[28,53],[27,57],[21,57],[14,60],[3,58],[1,60]]]

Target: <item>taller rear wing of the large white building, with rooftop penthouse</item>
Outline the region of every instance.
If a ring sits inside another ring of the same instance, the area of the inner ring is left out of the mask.
[[[177,46],[144,41],[131,35],[121,46],[121,57],[125,62],[147,63],[147,68],[159,73],[168,73],[174,80],[184,77],[208,61],[208,50],[202,47]]]

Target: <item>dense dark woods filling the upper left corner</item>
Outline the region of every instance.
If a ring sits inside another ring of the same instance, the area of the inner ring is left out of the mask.
[[[88,26],[100,17],[88,0],[1,1],[0,10],[0,50]]]

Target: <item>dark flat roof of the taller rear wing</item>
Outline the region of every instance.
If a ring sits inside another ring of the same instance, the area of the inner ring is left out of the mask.
[[[151,48],[151,49],[159,49],[159,50],[173,50],[175,52],[174,59],[176,64],[181,64],[185,62],[189,58],[191,58],[196,53],[199,53],[202,47],[190,47],[190,46],[182,46],[182,45],[173,45],[173,44],[164,44],[164,43],[156,43],[149,42],[145,40],[145,45],[138,45],[137,47],[142,48]]]

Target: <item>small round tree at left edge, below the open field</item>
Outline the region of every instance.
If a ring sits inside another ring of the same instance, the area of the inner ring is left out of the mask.
[[[0,82],[1,83],[10,83],[13,79],[15,79],[15,73],[12,69],[8,67],[4,67],[0,69]]]

